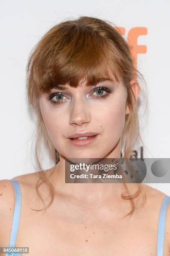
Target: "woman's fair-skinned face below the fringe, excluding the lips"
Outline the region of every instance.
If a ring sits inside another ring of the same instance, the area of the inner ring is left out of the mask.
[[[118,142],[127,113],[126,97],[122,80],[106,80],[90,87],[82,82],[77,88],[66,85],[64,90],[62,86],[62,90],[53,88],[50,94],[41,95],[41,113],[53,146],[66,158],[120,157]],[[69,138],[79,132],[98,135],[80,146]]]

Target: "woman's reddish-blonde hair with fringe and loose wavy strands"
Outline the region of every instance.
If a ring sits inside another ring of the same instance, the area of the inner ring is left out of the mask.
[[[129,81],[136,75],[144,82],[145,79],[134,68],[130,46],[119,29],[109,21],[84,16],[74,20],[65,20],[53,26],[31,51],[26,72],[28,100],[37,114],[35,159],[40,179],[36,184],[36,191],[43,201],[38,188],[43,182],[46,183],[51,195],[51,201],[47,206],[49,207],[53,202],[54,192],[40,162],[42,139],[55,164],[59,161],[59,154],[51,143],[43,122],[39,107],[40,95],[50,92],[56,84],[68,83],[71,87],[77,87],[79,82],[84,79],[86,85],[89,86],[96,84],[99,77],[111,79],[114,77],[117,82],[119,82],[119,77],[122,77],[127,91],[126,102],[130,109],[130,113],[125,118],[122,134],[124,144],[122,157],[130,158],[137,138],[141,140],[142,138],[137,102],[135,102]],[[130,200],[132,205],[132,210],[125,215],[126,217],[133,214],[135,209],[133,199],[140,195],[142,186],[137,184],[137,191],[133,195],[129,194],[125,183],[124,187],[126,192],[121,196],[125,200]]]

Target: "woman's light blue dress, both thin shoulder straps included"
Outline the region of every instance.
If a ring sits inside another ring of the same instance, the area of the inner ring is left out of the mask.
[[[20,184],[16,179],[11,179],[15,189],[15,209],[13,215],[13,225],[10,234],[10,244],[7,247],[15,247],[15,241],[18,233],[18,226],[20,222],[20,209],[21,209],[21,192]],[[160,209],[159,221],[158,221],[158,232],[157,232],[157,256],[163,256],[164,248],[164,236],[165,236],[165,223],[166,223],[166,212],[167,206],[170,202],[170,197],[165,196]],[[21,246],[22,247],[22,246]],[[27,253],[24,255],[28,255]],[[5,256],[22,256],[20,253],[6,253]]]

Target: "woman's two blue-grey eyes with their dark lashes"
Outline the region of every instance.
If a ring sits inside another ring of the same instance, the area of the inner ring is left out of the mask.
[[[92,91],[92,94],[94,92],[98,93],[99,95],[94,95],[93,98],[95,100],[101,100],[101,99],[105,99],[106,97],[108,97],[109,93],[111,93],[111,90],[109,90],[107,87],[100,87],[99,86],[99,87],[94,88],[94,90]],[[104,94],[104,92],[106,92],[106,93]],[[55,97],[56,100],[53,100],[54,97]],[[63,97],[66,97],[63,93],[61,93],[61,92],[53,92],[51,95],[48,96],[47,99],[53,105],[60,105],[60,104],[63,104],[64,101],[65,101],[65,100],[63,100]]]

